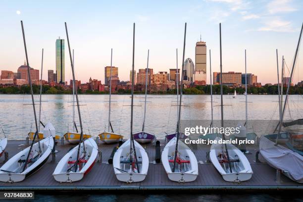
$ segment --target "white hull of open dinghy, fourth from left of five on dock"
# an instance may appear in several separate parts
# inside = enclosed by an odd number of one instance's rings
[[[172,171],[173,163],[169,160],[174,159],[177,138],[171,139],[165,146],[161,154],[161,161],[167,176],[175,182],[192,182],[198,177],[198,161],[195,154],[186,146],[179,147],[178,152],[181,159],[186,159],[189,163],[176,163],[175,172]],[[180,144],[180,143],[179,143]],[[180,146],[180,145],[179,145]],[[188,156],[188,157],[186,157]],[[180,169],[183,167],[183,169]]]

